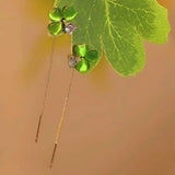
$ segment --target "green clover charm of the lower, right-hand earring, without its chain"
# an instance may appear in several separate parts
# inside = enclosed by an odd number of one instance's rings
[[[97,50],[90,49],[88,45],[74,45],[73,55],[69,56],[69,67],[75,68],[81,73],[86,73],[91,63],[98,59]]]

